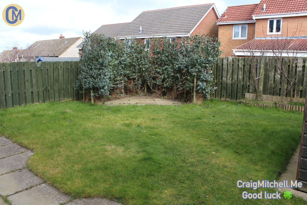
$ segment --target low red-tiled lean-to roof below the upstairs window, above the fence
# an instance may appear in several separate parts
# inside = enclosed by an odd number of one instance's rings
[[[235,48],[236,50],[297,50],[307,51],[307,38],[298,39],[253,39]]]

